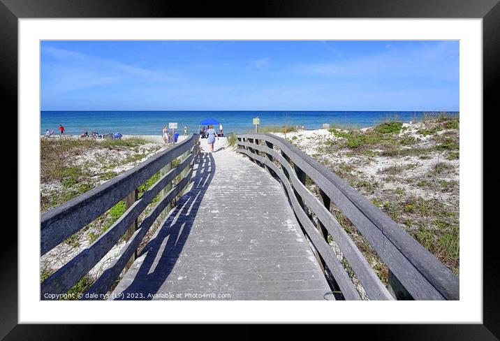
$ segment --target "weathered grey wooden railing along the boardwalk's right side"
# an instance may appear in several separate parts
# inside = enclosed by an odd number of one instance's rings
[[[369,299],[390,300],[394,296],[415,300],[459,299],[456,275],[367,198],[291,143],[270,133],[244,134],[237,136],[236,151],[279,177],[298,222],[314,246],[318,259],[332,273],[344,298],[360,300],[360,293],[329,245],[328,234],[337,243]],[[305,186],[306,176],[318,186],[319,198]],[[330,213],[330,201],[337,205],[388,267],[388,288]],[[317,223],[311,219],[309,210],[316,215]]]

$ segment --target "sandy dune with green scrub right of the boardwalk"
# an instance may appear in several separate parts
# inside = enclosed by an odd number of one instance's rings
[[[323,164],[365,194],[369,201],[401,224],[405,231],[453,273],[458,274],[459,220],[455,196],[459,183],[449,178],[450,175],[455,177],[457,165],[446,160],[459,158],[459,118],[457,115],[438,115],[439,113],[429,113],[425,122],[418,126],[409,126],[406,130],[401,127],[399,135],[396,134],[397,126],[392,130],[387,122],[379,129],[334,127],[330,129],[330,133],[336,143],[326,140],[315,150],[321,155]],[[425,136],[428,138],[424,138]],[[328,155],[332,156],[330,161]],[[394,159],[394,166],[377,167],[379,170],[376,175],[370,175],[374,170],[374,163],[379,161],[377,156],[384,157],[380,160],[383,163],[387,162],[387,157]],[[369,166],[369,173],[362,170],[362,165],[367,165],[363,162],[363,157],[365,161],[370,158],[369,164],[372,166]],[[422,161],[417,161],[418,159]],[[427,168],[427,174],[422,174]],[[369,176],[375,176],[375,179]],[[370,187],[371,182],[391,182],[394,187],[392,184]],[[391,187],[395,189],[390,189]],[[407,187],[411,190],[406,191]],[[450,196],[441,197],[443,192],[448,192]],[[432,196],[427,196],[429,193]],[[335,215],[334,212],[332,214],[338,217],[341,226],[361,249],[363,246],[355,235],[356,228],[346,224],[341,215]],[[371,256],[366,257],[370,259]],[[379,265],[383,269],[383,263],[377,262],[372,263],[372,268],[375,270]]]

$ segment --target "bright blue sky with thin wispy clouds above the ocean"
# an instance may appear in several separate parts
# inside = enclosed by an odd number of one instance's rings
[[[43,41],[41,110],[459,110],[458,41]]]

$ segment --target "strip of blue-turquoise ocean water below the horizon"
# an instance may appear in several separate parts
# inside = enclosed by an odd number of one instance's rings
[[[320,129],[323,123],[342,124],[364,128],[385,119],[411,122],[425,115],[439,115],[424,111],[41,111],[41,134],[45,129],[59,133],[62,124],[65,133],[80,135],[84,131],[99,133],[120,132],[124,135],[161,135],[163,126],[177,122],[179,132],[188,126],[189,133],[198,132],[200,121],[213,118],[221,122],[224,133],[253,131],[253,117],[260,117],[261,126],[304,125],[305,129]],[[447,112],[459,115],[458,112]],[[219,127],[214,127],[219,131]]]

